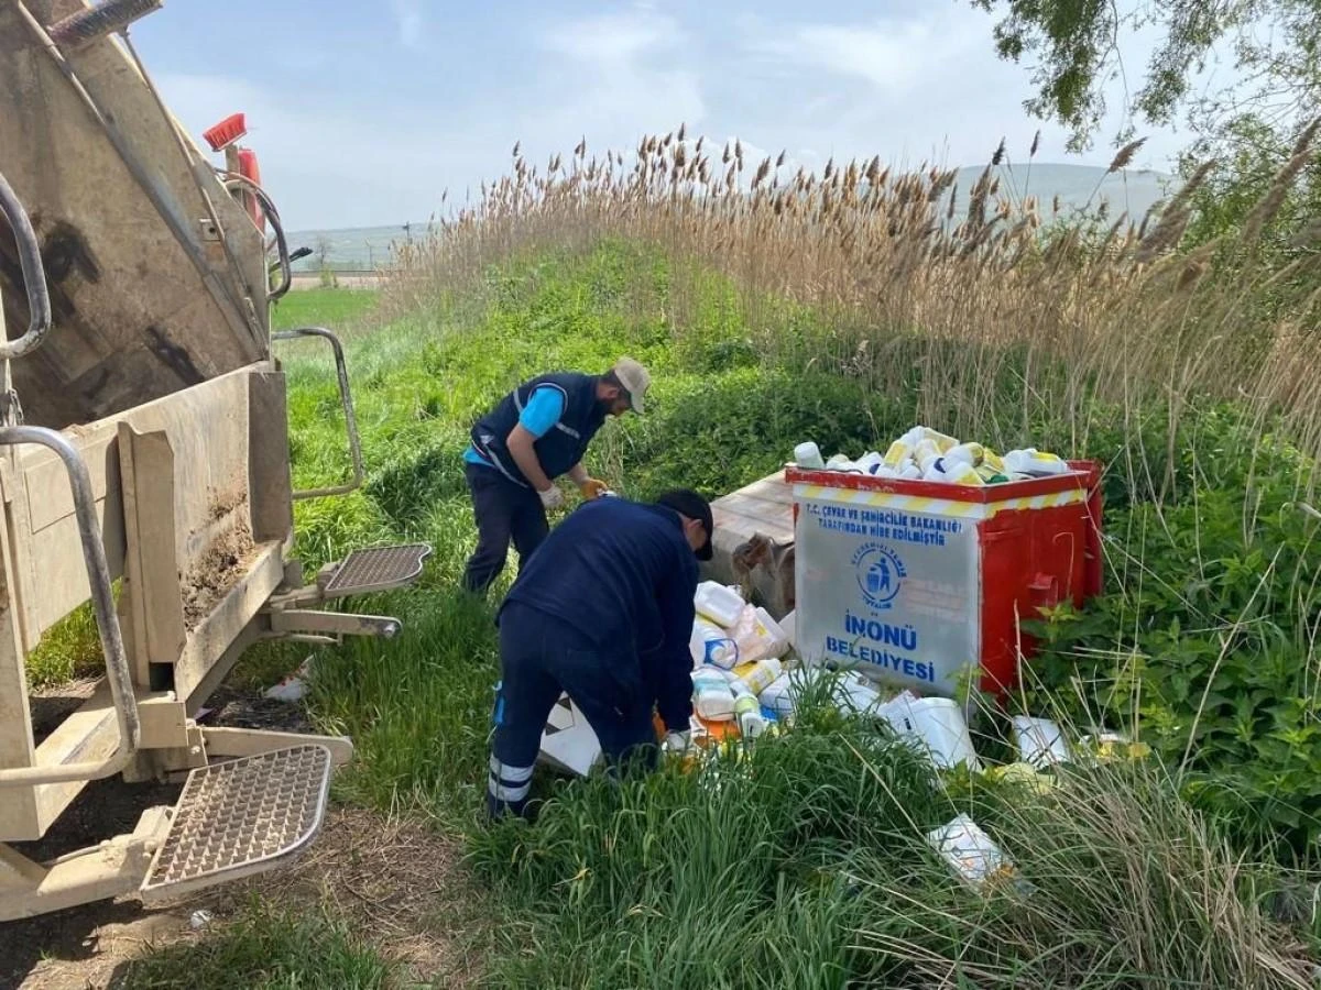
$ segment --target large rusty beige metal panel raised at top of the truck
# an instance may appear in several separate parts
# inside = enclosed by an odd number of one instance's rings
[[[30,3],[45,24],[82,3]],[[203,176],[239,259],[206,234],[206,203],[169,117],[119,44],[67,53],[78,79],[140,166],[135,177],[13,4],[0,4],[0,173],[42,246],[54,309],[46,343],[16,362],[28,422],[89,422],[268,354],[262,235]],[[144,178],[145,177],[145,181]],[[222,289],[222,290],[218,290]],[[0,296],[11,334],[28,325],[13,240],[0,220]]]

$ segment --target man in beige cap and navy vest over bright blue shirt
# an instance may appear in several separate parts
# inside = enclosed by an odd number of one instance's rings
[[[519,569],[546,539],[547,510],[564,504],[555,479],[568,475],[590,500],[605,483],[583,454],[606,416],[641,413],[651,376],[631,358],[604,375],[555,372],[524,381],[473,426],[464,471],[477,517],[477,549],[464,586],[485,594],[505,569],[510,539]]]

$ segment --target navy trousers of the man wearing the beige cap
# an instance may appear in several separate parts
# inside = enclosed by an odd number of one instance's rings
[[[531,488],[509,480],[494,467],[465,463],[468,490],[473,495],[473,516],[477,520],[477,549],[464,572],[464,587],[477,594],[486,589],[505,569],[509,541],[518,550],[518,566],[542,545],[550,532],[546,508]]]

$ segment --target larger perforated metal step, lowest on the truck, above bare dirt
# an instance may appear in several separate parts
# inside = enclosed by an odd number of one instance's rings
[[[190,772],[139,896],[173,898],[293,859],[325,818],[332,766],[330,750],[312,743]]]

